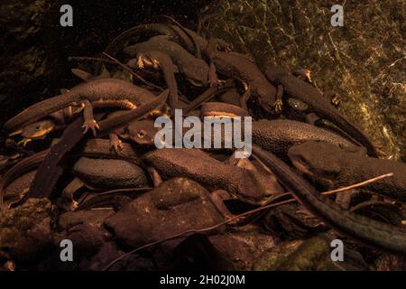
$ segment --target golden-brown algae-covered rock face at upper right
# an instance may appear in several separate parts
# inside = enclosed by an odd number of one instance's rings
[[[208,32],[260,68],[312,70],[319,89],[337,91],[340,110],[387,157],[406,159],[406,2],[347,1],[333,27],[334,1],[221,0]]]

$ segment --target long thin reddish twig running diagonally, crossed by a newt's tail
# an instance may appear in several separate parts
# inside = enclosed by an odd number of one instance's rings
[[[376,182],[376,181],[381,180],[381,179],[383,179],[383,178],[391,177],[392,175],[393,175],[392,172],[391,172],[391,173],[386,173],[386,174],[377,176],[377,177],[375,177],[375,178],[373,178],[373,179],[369,179],[369,180],[366,180],[366,181],[364,181],[364,182],[355,183],[355,184],[353,184],[353,185],[350,185],[350,186],[347,186],[347,187],[344,187],[344,188],[340,188],[340,189],[333,190],[333,191],[325,191],[325,192],[322,192],[322,194],[323,194],[323,195],[330,195],[330,194],[333,194],[333,193],[336,193],[336,192],[339,192],[339,191],[351,190],[351,189],[354,189],[354,188],[357,188],[357,187],[364,186],[364,185],[369,184],[369,183],[371,183],[371,182]],[[287,193],[287,194],[289,194],[289,193]],[[216,224],[216,225],[214,225],[214,226],[211,226],[211,227],[207,227],[207,228],[197,228],[197,229],[189,229],[189,230],[183,231],[183,232],[181,232],[181,233],[179,233],[179,234],[172,235],[171,237],[162,238],[162,239],[160,239],[160,240],[157,240],[157,241],[154,241],[154,242],[145,244],[145,245],[143,245],[142,247],[136,247],[136,248],[134,248],[134,250],[131,250],[131,251],[125,253],[125,255],[122,255],[122,256],[119,256],[119,257],[115,258],[112,262],[110,262],[107,266],[105,266],[105,267],[102,269],[102,271],[106,271],[109,267],[115,265],[115,263],[117,263],[118,261],[123,260],[126,256],[133,255],[134,253],[136,253],[136,252],[138,252],[138,251],[140,251],[140,250],[143,250],[143,249],[146,248],[146,247],[152,247],[152,246],[154,246],[154,245],[161,244],[161,243],[163,243],[163,242],[169,241],[169,240],[174,239],[174,238],[186,237],[186,236],[188,236],[189,234],[196,234],[196,233],[208,232],[208,231],[210,231],[210,230],[213,230],[213,229],[216,229],[216,228],[220,228],[220,227],[222,227],[222,226],[224,226],[224,225],[226,225],[226,224],[228,224],[228,223],[231,223],[231,222],[235,221],[236,219],[241,219],[241,218],[243,218],[243,217],[245,217],[245,216],[252,215],[252,214],[257,213],[257,212],[259,212],[259,211],[271,209],[271,208],[278,207],[278,206],[285,205],[285,204],[289,204],[289,203],[292,203],[292,202],[295,202],[295,201],[296,201],[295,199],[291,199],[291,200],[283,200],[283,201],[280,201],[280,202],[277,202],[277,203],[273,203],[273,204],[268,204],[268,205],[265,205],[265,206],[263,206],[263,207],[256,208],[256,209],[254,209],[254,210],[248,210],[248,211],[246,211],[246,212],[244,212],[244,213],[242,213],[242,214],[235,215],[235,217],[230,218],[230,219],[226,219],[225,221],[223,221],[223,222],[221,222],[221,223],[218,223],[218,224]]]

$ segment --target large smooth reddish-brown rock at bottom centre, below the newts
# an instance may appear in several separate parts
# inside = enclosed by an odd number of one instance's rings
[[[105,220],[115,238],[140,247],[189,229],[206,228],[223,221],[208,191],[197,182],[175,178],[133,200]]]

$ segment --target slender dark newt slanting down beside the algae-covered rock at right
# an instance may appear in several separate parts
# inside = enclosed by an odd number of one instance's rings
[[[368,154],[377,157],[378,153],[374,144],[347,120],[346,117],[341,115],[326,98],[323,98],[323,95],[318,89],[296,78],[288,70],[283,68],[271,67],[266,69],[265,74],[272,83],[282,86],[283,95],[300,99],[309,105],[309,111],[315,112],[318,117],[328,119],[334,123],[338,128],[352,136],[355,141],[363,144]]]

